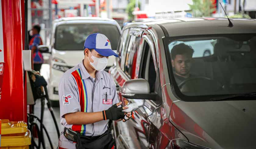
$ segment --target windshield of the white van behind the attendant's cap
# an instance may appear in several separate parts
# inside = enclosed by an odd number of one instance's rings
[[[101,33],[108,37],[111,47],[116,50],[119,30],[116,25],[86,23],[59,25],[55,32],[56,50],[84,50],[84,41],[92,33]]]

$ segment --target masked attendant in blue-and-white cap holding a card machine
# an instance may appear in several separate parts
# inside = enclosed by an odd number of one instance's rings
[[[84,43],[84,60],[66,71],[59,83],[60,122],[79,135],[83,148],[113,148],[115,141],[108,131],[108,121],[125,122],[125,116],[131,117],[131,113],[122,112],[127,107],[120,107],[115,82],[103,71],[112,55],[118,57],[105,35],[89,35]],[[62,132],[59,148],[77,146]]]

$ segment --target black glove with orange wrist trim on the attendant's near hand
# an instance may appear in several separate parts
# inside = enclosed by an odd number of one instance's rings
[[[116,104],[108,108],[107,110],[102,111],[104,120],[119,120],[123,118],[124,112],[122,112],[123,107],[117,107]]]

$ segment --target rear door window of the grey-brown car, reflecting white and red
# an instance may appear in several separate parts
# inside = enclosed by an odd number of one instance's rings
[[[136,69],[136,58],[137,50],[140,44],[140,37],[131,36],[129,46],[127,48],[126,61],[124,72],[128,75],[129,78],[134,78],[135,69]]]

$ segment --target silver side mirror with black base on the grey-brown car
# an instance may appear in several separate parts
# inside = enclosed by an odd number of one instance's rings
[[[150,93],[149,83],[145,79],[132,79],[124,82],[121,95],[127,99],[156,100],[156,93]]]

